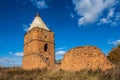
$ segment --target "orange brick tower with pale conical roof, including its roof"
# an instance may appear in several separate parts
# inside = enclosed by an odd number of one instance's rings
[[[42,21],[39,14],[34,18],[24,36],[22,68],[26,70],[54,65],[54,33]]]

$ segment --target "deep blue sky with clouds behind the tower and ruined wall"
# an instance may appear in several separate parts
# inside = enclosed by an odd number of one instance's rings
[[[120,44],[119,0],[0,0],[0,66],[21,66],[24,34],[37,12],[55,33],[56,59],[76,46],[107,55]]]

